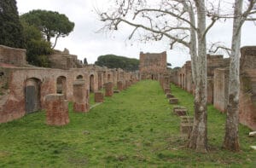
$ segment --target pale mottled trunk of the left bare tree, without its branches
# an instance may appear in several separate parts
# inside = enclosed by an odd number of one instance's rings
[[[207,153],[207,44],[206,11],[204,0],[195,1],[198,23],[198,74],[195,89],[195,117],[189,138],[189,148]]]

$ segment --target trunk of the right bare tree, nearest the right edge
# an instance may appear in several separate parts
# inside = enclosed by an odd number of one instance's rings
[[[230,55],[230,83],[229,99],[226,118],[226,132],[224,136],[224,148],[231,151],[239,151],[239,65],[240,65],[240,44],[241,44],[241,0],[236,0],[235,17],[233,20],[233,35]]]

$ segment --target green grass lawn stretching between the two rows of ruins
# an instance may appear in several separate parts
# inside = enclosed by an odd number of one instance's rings
[[[172,85],[193,114],[193,97]],[[44,112],[0,125],[0,167],[255,167],[255,138],[240,127],[241,152],[222,150],[224,114],[208,107],[208,154],[185,148],[179,119],[160,84],[142,81],[70,123],[45,125]]]

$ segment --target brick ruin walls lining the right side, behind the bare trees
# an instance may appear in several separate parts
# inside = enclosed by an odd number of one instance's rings
[[[221,112],[228,105],[230,59],[223,55],[207,55],[207,102]],[[172,83],[183,90],[195,93],[192,84],[191,62],[172,71]],[[256,130],[256,47],[241,48],[240,65],[240,122]]]

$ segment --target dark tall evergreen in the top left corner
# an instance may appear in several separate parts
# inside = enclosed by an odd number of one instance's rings
[[[0,0],[0,44],[24,48],[22,26],[15,0]]]

